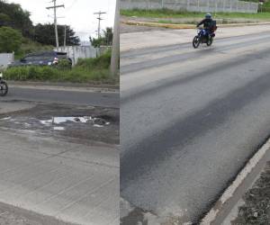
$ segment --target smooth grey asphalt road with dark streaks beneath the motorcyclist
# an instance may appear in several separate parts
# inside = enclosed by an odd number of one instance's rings
[[[270,135],[269,44],[262,32],[121,53],[125,200],[200,219]]]

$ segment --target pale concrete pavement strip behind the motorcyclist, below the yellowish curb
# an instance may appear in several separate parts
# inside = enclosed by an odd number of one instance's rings
[[[256,25],[243,27],[224,27],[216,31],[216,38],[229,38],[258,32],[270,31],[270,25]],[[192,43],[196,35],[195,29],[162,30],[121,33],[121,51],[131,49],[155,48],[176,44]],[[139,40],[139,41],[138,41]]]

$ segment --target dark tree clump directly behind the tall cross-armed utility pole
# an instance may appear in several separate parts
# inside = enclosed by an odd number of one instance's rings
[[[75,36],[70,26],[66,26],[67,31],[67,45],[79,45],[80,40]],[[58,25],[59,45],[64,45],[65,26]],[[46,45],[56,45],[54,24],[37,24],[34,28],[34,40]]]

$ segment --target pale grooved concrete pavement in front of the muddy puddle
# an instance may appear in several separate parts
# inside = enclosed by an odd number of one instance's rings
[[[82,225],[119,224],[119,152],[0,130],[0,202]]]

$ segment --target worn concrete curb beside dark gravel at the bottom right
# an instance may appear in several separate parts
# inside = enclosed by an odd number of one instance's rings
[[[247,165],[240,171],[233,183],[229,185],[225,192],[220,196],[220,199],[215,202],[211,210],[202,218],[200,225],[217,224],[217,220],[220,219],[222,211],[226,211],[226,206],[229,205],[229,202],[232,201],[234,196],[238,195],[237,193],[241,189],[241,185],[247,180],[247,176],[256,170],[256,167],[261,161],[264,161],[264,157],[266,157],[266,153],[268,153],[269,149],[270,139],[268,139],[266,144],[249,159]]]

